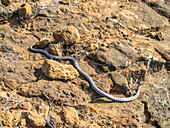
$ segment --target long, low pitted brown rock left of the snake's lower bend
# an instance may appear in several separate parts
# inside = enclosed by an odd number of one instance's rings
[[[48,100],[53,100],[56,105],[72,106],[91,100],[90,96],[81,89],[80,82],[74,85],[70,82],[39,80],[37,83],[22,85],[18,90],[26,97],[45,96]]]

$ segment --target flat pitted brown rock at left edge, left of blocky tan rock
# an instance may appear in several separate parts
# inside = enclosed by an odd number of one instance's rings
[[[4,81],[10,89],[16,89],[18,84],[34,81],[34,64],[24,61],[1,62],[0,80]]]

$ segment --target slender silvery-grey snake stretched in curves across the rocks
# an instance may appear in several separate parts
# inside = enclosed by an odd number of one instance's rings
[[[91,85],[91,88],[96,92],[98,93],[99,95],[101,96],[104,96],[104,97],[107,97],[108,99],[112,100],[112,101],[116,101],[116,102],[128,102],[128,101],[132,101],[132,100],[135,100],[139,94],[140,94],[140,88],[143,86],[143,83],[140,84],[137,88],[137,92],[134,96],[131,96],[131,97],[126,97],[126,98],[118,98],[118,97],[114,97],[102,90],[100,90],[94,83],[94,81],[92,80],[92,78],[87,74],[85,73],[83,70],[80,69],[80,67],[78,66],[78,63],[77,63],[77,60],[73,57],[58,57],[58,56],[54,56],[54,55],[51,55],[49,54],[47,51],[45,50],[42,50],[42,49],[35,49],[34,47],[36,46],[36,44],[33,44],[32,46],[30,46],[30,50],[32,52],[35,52],[35,53],[41,53],[41,54],[44,54],[46,55],[48,58],[50,59],[53,59],[53,60],[62,60],[62,61],[70,61],[72,62],[74,68],[76,68],[76,70],[85,77],[85,79],[88,81],[88,83]]]

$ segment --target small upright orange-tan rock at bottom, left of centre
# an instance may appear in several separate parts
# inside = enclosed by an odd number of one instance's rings
[[[75,124],[78,120],[78,111],[73,107],[63,108],[63,117],[67,124]]]

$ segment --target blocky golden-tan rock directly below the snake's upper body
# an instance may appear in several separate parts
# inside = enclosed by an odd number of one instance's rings
[[[51,79],[71,80],[79,75],[72,65],[62,64],[54,60],[45,60],[41,69]]]

